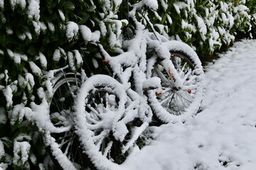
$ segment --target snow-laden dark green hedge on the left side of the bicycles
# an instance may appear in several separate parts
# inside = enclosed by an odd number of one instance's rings
[[[110,49],[121,45],[110,42],[127,23],[117,19],[118,9],[107,1],[0,1],[0,169],[43,169],[48,154],[31,103],[39,105],[42,92],[51,97],[51,70],[69,64],[77,72],[92,62],[82,50],[92,35]]]

